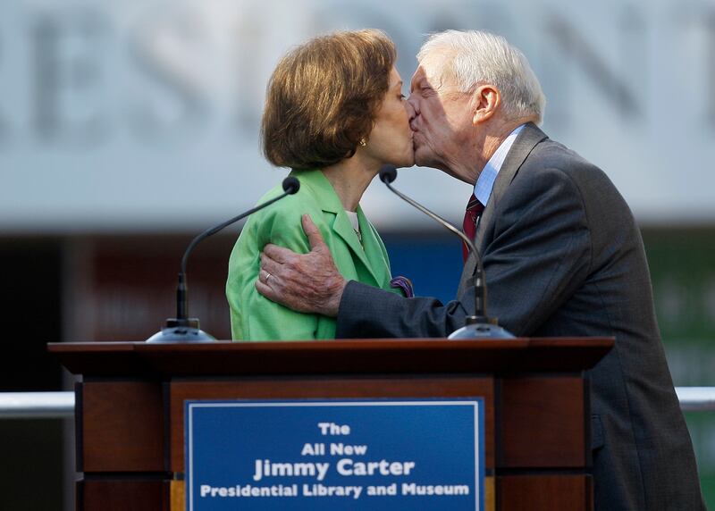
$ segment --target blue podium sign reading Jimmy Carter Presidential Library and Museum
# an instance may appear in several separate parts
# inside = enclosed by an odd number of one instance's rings
[[[189,511],[484,509],[483,398],[187,401]]]

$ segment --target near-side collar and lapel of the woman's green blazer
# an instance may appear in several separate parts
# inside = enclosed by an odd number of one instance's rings
[[[369,272],[375,281],[374,285],[379,285],[379,281],[374,275],[373,267],[368,260],[369,258],[360,245],[360,240],[357,239],[355,230],[352,229],[348,215],[345,214],[345,208],[341,203],[341,199],[338,197],[338,194],[335,193],[335,189],[332,188],[332,184],[330,184],[328,178],[326,178],[321,171],[303,171],[300,172],[299,175],[301,185],[304,182],[307,183],[309,188],[315,193],[315,196],[319,198],[318,203],[321,209],[326,213],[335,215],[335,219],[332,222],[332,231],[350,247],[350,250],[357,256],[357,259],[365,265],[367,272]],[[361,214],[359,207],[357,211],[359,217]],[[363,230],[362,222],[360,223],[360,230]],[[372,236],[372,233],[370,233],[369,236]]]

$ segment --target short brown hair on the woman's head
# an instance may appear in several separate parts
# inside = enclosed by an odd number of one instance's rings
[[[355,154],[397,58],[382,31],[336,32],[286,54],[273,71],[261,123],[263,150],[279,167],[325,167]]]

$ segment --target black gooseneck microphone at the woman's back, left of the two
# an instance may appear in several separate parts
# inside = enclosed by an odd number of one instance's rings
[[[187,247],[183,257],[181,257],[179,284],[176,287],[176,317],[167,319],[166,326],[147,339],[147,342],[211,342],[215,340],[212,335],[199,328],[198,318],[189,318],[189,298],[187,296],[186,286],[186,265],[189,262],[189,255],[201,241],[219,230],[223,230],[231,225],[231,223],[238,222],[246,218],[249,214],[254,214],[272,205],[274,202],[281,200],[283,197],[298,193],[300,181],[298,178],[289,176],[283,180],[282,186],[283,193],[278,197],[273,197],[271,200],[267,200],[265,203],[259,204],[245,213],[234,216],[230,220],[222,222],[211,229],[207,229],[191,240],[189,247]]]

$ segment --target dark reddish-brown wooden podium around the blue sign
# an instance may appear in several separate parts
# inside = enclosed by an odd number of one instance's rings
[[[585,370],[611,338],[54,343],[76,384],[77,508],[183,508],[185,399],[482,397],[487,510],[593,509]]]

